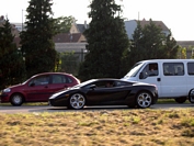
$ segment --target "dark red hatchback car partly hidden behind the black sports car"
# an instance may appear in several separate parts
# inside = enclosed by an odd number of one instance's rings
[[[21,85],[4,89],[0,94],[0,102],[11,102],[12,105],[22,105],[24,102],[48,102],[54,92],[78,83],[80,81],[69,74],[38,74]]]

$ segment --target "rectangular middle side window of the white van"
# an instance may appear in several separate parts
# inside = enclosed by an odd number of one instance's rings
[[[183,76],[184,65],[183,63],[163,63],[164,76]]]

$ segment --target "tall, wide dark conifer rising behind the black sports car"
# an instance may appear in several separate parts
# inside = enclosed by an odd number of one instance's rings
[[[84,32],[89,53],[80,66],[79,78],[119,78],[122,56],[129,45],[124,20],[119,15],[121,5],[114,0],[93,0],[90,8],[91,22]]]

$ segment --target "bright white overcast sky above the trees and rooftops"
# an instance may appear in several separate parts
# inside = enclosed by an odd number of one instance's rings
[[[30,0],[0,0],[0,15],[8,16],[11,23],[25,21]],[[89,23],[91,0],[53,0],[54,18],[76,18],[77,23]],[[162,21],[176,41],[194,41],[194,1],[193,0],[115,0],[122,5],[126,20]]]

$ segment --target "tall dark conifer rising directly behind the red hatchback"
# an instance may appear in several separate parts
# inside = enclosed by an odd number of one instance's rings
[[[55,70],[56,50],[50,0],[31,0],[26,9],[26,26],[21,33],[22,53],[25,56],[27,77]]]

